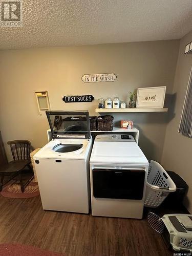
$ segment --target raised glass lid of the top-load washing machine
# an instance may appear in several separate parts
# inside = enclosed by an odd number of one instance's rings
[[[88,111],[46,111],[54,139],[90,139]]]

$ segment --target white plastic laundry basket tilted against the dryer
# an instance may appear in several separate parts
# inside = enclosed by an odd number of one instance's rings
[[[170,192],[176,191],[176,185],[158,162],[149,163],[144,205],[156,208]]]

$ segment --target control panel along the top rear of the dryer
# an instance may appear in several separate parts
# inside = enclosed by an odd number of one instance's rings
[[[132,135],[128,134],[101,134],[95,137],[95,141],[126,141],[135,142]]]

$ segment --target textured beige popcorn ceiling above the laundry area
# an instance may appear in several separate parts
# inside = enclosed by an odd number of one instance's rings
[[[23,0],[23,27],[0,28],[0,49],[177,39],[191,0]]]

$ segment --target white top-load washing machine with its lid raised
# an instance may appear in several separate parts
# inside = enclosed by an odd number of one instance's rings
[[[89,112],[47,111],[53,140],[34,155],[42,208],[88,214]]]

